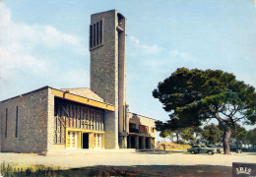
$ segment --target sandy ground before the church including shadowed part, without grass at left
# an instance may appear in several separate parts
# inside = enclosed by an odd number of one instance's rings
[[[232,162],[256,163],[256,153],[190,154],[185,151],[97,152],[42,156],[0,153],[0,162],[16,167],[50,166],[79,174],[90,170],[130,173],[130,176],[231,176]],[[75,168],[75,169],[74,169]],[[80,168],[80,169],[78,169]],[[77,170],[77,171],[76,171]],[[89,171],[88,171],[89,170]],[[118,173],[117,173],[118,174]],[[171,175],[170,175],[171,174]],[[78,175],[79,176],[79,175]]]

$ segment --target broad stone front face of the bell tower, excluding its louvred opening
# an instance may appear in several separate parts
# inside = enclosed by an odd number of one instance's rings
[[[103,23],[103,43],[91,49],[91,89],[102,97],[104,102],[115,106],[115,112],[107,113],[105,116],[105,148],[117,148],[119,110],[117,11],[111,10],[91,16],[91,25],[99,21]]]

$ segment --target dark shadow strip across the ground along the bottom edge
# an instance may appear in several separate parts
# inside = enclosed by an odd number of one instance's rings
[[[93,166],[66,170],[37,170],[15,172],[14,176],[231,176],[232,168],[213,165],[138,165],[138,166]]]

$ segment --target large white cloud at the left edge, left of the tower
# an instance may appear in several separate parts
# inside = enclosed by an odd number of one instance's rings
[[[87,49],[78,36],[65,33],[52,26],[19,24],[12,21],[10,10],[0,3],[0,78],[9,80],[20,69],[39,74],[49,71],[51,60],[36,53],[36,47],[58,49],[69,46],[79,54]],[[35,53],[35,54],[33,54]]]

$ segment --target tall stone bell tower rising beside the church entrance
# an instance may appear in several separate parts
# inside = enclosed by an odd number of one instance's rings
[[[91,89],[113,104],[105,118],[105,139],[127,148],[126,19],[117,10],[93,14],[90,25]],[[114,137],[114,138],[113,138]],[[118,146],[117,146],[118,145]],[[111,148],[105,146],[106,148]]]

